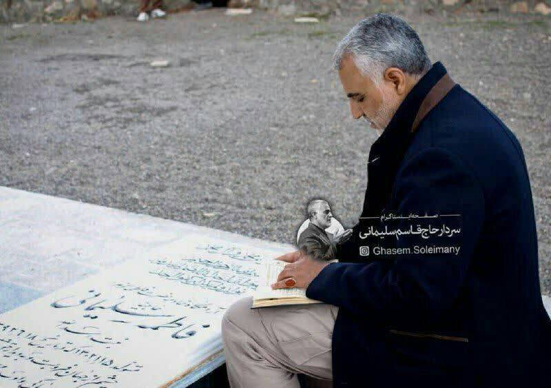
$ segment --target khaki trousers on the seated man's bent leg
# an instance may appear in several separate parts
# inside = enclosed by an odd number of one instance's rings
[[[251,309],[233,303],[222,318],[222,340],[232,388],[299,388],[296,374],[331,380],[331,336],[338,307]]]

